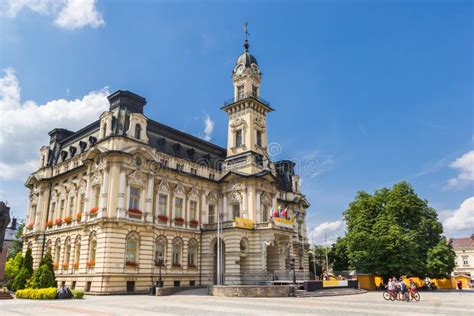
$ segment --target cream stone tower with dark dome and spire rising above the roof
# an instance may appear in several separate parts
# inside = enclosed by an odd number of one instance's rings
[[[266,115],[273,109],[260,97],[262,73],[245,31],[244,52],[232,71],[234,97],[222,107],[229,116],[226,168],[255,174],[270,169]]]

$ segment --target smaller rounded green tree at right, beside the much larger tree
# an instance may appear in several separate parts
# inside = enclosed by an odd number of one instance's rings
[[[445,278],[454,270],[456,253],[446,238],[442,238],[439,243],[428,251],[426,267],[428,275],[432,278]]]

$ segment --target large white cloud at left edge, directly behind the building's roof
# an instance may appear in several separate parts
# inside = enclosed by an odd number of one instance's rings
[[[39,149],[56,127],[77,130],[107,110],[107,88],[81,99],[56,99],[45,104],[21,103],[20,84],[13,69],[0,78],[0,178],[26,180],[39,162]]]

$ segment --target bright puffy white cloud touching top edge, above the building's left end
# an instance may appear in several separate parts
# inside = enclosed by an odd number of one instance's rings
[[[94,28],[103,26],[105,22],[97,11],[95,2],[95,0],[68,0],[54,23],[70,30],[84,26]]]

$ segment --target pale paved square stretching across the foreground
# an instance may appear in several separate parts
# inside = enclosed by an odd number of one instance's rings
[[[309,298],[227,298],[193,290],[153,297],[86,296],[67,301],[0,301],[0,315],[474,315],[474,293],[421,293],[419,303],[387,302],[381,292]]]

